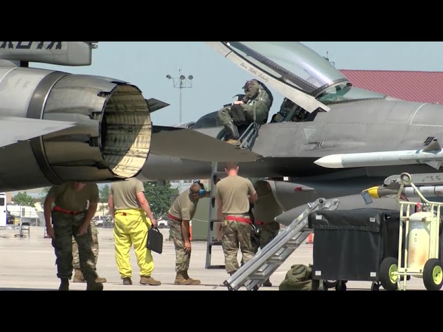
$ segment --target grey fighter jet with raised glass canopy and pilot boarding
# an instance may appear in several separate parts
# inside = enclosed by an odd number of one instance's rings
[[[239,141],[240,149],[260,155],[239,163],[240,175],[290,178],[269,181],[284,211],[304,210],[306,203],[319,196],[338,198],[341,209],[365,207],[361,190],[383,183],[388,176],[439,172],[426,164],[340,169],[314,162],[336,154],[426,149],[442,139],[443,105],[408,102],[356,88],[327,59],[299,42],[206,43],[284,96],[279,109],[271,108],[268,122],[242,128],[246,133]],[[241,86],[243,82],[228,83]],[[224,140],[217,111],[183,127]],[[153,153],[138,177],[211,177],[211,163],[178,157]],[[223,172],[223,167],[219,163],[217,172]],[[397,207],[395,201],[383,199],[373,206]]]

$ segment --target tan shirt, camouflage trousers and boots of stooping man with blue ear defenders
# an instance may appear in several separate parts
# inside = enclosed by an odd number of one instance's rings
[[[190,221],[195,215],[198,199],[192,197],[192,192],[186,190],[182,192],[168,211],[168,225],[170,227],[170,237],[174,241],[175,248],[175,271],[177,273],[174,284],[176,285],[198,285],[200,280],[192,279],[188,275],[191,259],[191,251],[186,252],[181,223],[183,220]],[[196,196],[198,197],[198,195]]]

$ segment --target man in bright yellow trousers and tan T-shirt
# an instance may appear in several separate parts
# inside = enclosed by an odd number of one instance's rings
[[[140,284],[161,285],[161,282],[151,277],[154,260],[151,250],[146,248],[147,232],[151,227],[156,228],[157,222],[145,198],[143,183],[137,178],[112,183],[109,188],[108,208],[111,216],[114,216],[116,263],[123,284],[132,285],[129,250],[134,246],[140,267]]]

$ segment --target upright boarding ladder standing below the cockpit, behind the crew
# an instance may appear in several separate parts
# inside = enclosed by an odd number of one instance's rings
[[[211,174],[211,185],[210,185],[210,205],[209,205],[209,216],[208,216],[208,238],[206,240],[206,264],[205,268],[215,269],[220,268],[224,269],[224,265],[211,265],[211,255],[213,252],[213,246],[221,246],[221,241],[217,241],[217,230],[215,236],[213,234],[214,231],[214,223],[221,222],[220,219],[215,219],[213,214],[217,217],[217,211],[215,211],[215,186],[217,183],[217,178],[221,176],[221,172],[217,172],[218,163],[213,162],[213,171]],[[215,237],[215,239],[214,239]]]

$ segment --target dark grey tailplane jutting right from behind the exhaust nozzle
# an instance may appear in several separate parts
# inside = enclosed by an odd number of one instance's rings
[[[192,129],[162,126],[153,126],[152,129],[152,154],[199,161],[235,160],[239,163],[262,157]]]

